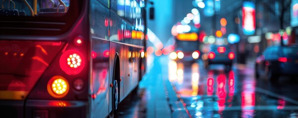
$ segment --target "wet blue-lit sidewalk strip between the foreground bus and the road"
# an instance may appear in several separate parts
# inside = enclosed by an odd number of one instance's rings
[[[164,59],[157,58],[154,66],[143,77],[139,88],[146,89],[147,115],[146,118],[189,118],[183,101],[178,98],[168,79],[166,63],[158,62]],[[166,65],[158,65],[158,64]]]

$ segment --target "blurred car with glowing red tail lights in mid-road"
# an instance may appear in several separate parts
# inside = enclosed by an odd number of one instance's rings
[[[224,64],[226,70],[231,70],[235,53],[228,45],[211,45],[207,57],[204,59],[205,68],[209,68],[211,64]]]

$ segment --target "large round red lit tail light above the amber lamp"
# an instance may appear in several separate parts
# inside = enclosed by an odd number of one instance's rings
[[[60,57],[60,67],[68,75],[79,74],[84,66],[85,59],[81,52],[77,50],[67,50]]]

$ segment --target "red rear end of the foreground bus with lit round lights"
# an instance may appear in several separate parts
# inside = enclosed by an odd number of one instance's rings
[[[87,2],[3,0],[2,6],[1,117],[86,117],[90,31],[83,16]]]

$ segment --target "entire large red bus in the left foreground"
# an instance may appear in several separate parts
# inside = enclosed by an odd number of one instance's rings
[[[3,0],[1,118],[105,118],[144,73],[144,0]]]

